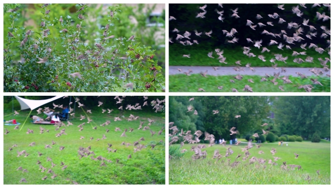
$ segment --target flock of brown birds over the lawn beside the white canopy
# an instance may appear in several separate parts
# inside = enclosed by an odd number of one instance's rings
[[[68,97],[68,96],[65,96],[65,97]],[[64,98],[65,98],[64,97]],[[120,98],[119,96],[116,96],[114,99],[117,101],[116,102],[116,104],[121,104],[122,105],[122,101],[124,100],[124,98],[125,98],[125,96],[122,96],[122,98]],[[144,105],[147,105],[147,100],[148,99],[148,97],[147,96],[144,96],[144,104],[143,104],[143,106]],[[81,107],[81,106],[84,106],[84,104],[81,104],[80,102],[80,99],[79,98],[76,98],[76,103],[79,105],[79,107]],[[164,106],[164,103],[165,103],[165,99],[164,100],[159,100],[159,99],[156,99],[156,100],[153,100],[153,101],[151,101],[151,106],[153,106],[153,109],[156,109],[156,112],[157,111],[161,111],[161,109],[163,108],[163,106]],[[70,104],[72,104],[72,102],[70,103]],[[100,102],[99,101],[99,105],[98,106],[101,106],[101,105],[103,105],[103,103],[102,102]],[[56,104],[53,104],[53,106],[54,106],[54,109],[56,108],[56,107],[60,107],[60,108],[62,108],[63,107],[63,104],[62,105],[56,105]],[[123,106],[123,105],[122,105]],[[122,107],[121,106],[121,107]],[[119,108],[119,109],[122,109],[122,108]],[[49,109],[49,107],[44,107],[45,108],[45,110],[47,111],[48,109]],[[131,105],[131,104],[127,104],[126,105],[126,107],[125,107],[125,109],[127,109],[127,110],[131,110],[131,109],[133,109],[133,110],[137,110],[137,109],[141,109],[141,105],[139,104],[139,103],[137,103],[137,104],[135,104],[135,105]],[[37,110],[37,112],[38,112],[38,114],[40,114],[41,113],[41,110],[42,110],[42,108],[40,108],[40,109],[38,109]],[[73,109],[72,108],[70,108],[70,112],[72,111]],[[104,109],[102,109],[103,111],[102,111],[102,113],[104,113],[106,110],[104,110]],[[110,112],[112,112],[113,111],[113,109],[111,109],[111,110],[109,110],[108,109],[108,113],[110,113]],[[87,110],[87,113],[92,113],[91,112],[91,110]],[[14,115],[17,115],[17,114],[19,114],[17,111],[15,111],[15,114]],[[73,114],[71,114],[72,116],[74,116],[74,113]],[[81,121],[83,121],[85,119],[85,116],[83,116],[83,115],[81,115]],[[134,116],[134,115],[132,115],[132,114],[130,114],[130,116],[127,118],[127,121],[135,121],[135,120],[138,120],[139,119],[139,116]],[[87,117],[87,120],[88,120],[88,122],[87,122],[87,124],[89,124],[90,122],[92,122],[92,120],[89,118],[89,117]],[[120,117],[115,117],[114,118],[114,121],[121,121],[122,119],[120,118]],[[155,131],[153,131],[153,130],[151,130],[150,129],[150,125],[154,122],[154,120],[151,120],[151,119],[149,119],[149,118],[147,118],[147,121],[148,121],[148,124],[147,124],[147,126],[144,126],[143,127],[143,125],[145,124],[145,122],[142,122],[142,121],[140,121],[140,125],[139,125],[139,127],[137,128],[138,130],[140,130],[140,129],[142,129],[142,130],[150,130],[150,133],[151,133],[151,137],[153,137],[153,135],[156,133]],[[110,121],[106,121],[105,123],[103,123],[102,125],[100,125],[100,126],[107,126],[107,125],[109,125],[111,122]],[[67,125],[65,124],[65,123],[63,123],[63,122],[59,122],[59,123],[56,123],[54,126],[56,127],[55,128],[55,131],[58,131],[62,126],[63,127],[66,127],[66,126],[70,126],[70,125],[73,125],[70,121],[67,121]],[[79,131],[82,131],[83,129],[84,129],[84,125],[85,125],[85,122],[84,123],[82,123],[82,124],[80,124],[80,125],[78,125],[78,127],[80,128],[79,129]],[[14,128],[14,130],[18,130],[19,129],[19,125],[17,125],[17,126],[15,126],[15,128]],[[95,127],[93,127],[93,129],[94,130],[96,130],[97,129],[97,126],[95,126]],[[162,134],[162,132],[163,132],[163,130],[165,129],[165,127],[163,126],[162,128],[161,128],[161,130],[158,132],[158,135],[161,135]],[[62,128],[61,130],[60,130],[60,132],[59,133],[56,133],[55,134],[55,136],[56,137],[61,137],[62,135],[67,135],[67,133],[65,132],[65,128]],[[47,130],[45,130],[45,128],[43,128],[42,126],[40,126],[40,134],[43,134],[43,133],[45,133],[45,132],[49,132],[50,130],[49,129],[47,129]],[[105,129],[105,133],[108,133],[110,130],[109,129]],[[120,127],[115,127],[115,131],[116,132],[118,132],[118,131],[121,131],[122,132],[122,130],[120,129]],[[125,135],[125,132],[133,132],[134,131],[134,128],[131,128],[131,127],[129,127],[129,129],[127,129],[127,128],[125,128],[124,129],[124,131],[123,131],[123,133],[121,134],[121,137],[126,137],[126,135]],[[6,129],[6,132],[5,132],[5,134],[8,134],[10,131],[8,131],[7,129]],[[32,130],[32,129],[27,129],[27,132],[26,132],[26,134],[33,134],[34,133],[34,130]],[[83,139],[85,139],[85,137],[84,136],[81,136],[80,137],[80,140],[83,140]],[[93,137],[90,137],[90,141],[92,141],[94,138]],[[105,136],[105,134],[102,136],[102,138],[100,139],[100,138],[97,138],[96,139],[96,141],[99,141],[99,140],[104,140],[104,139],[107,139],[106,138],[106,136]],[[141,151],[143,148],[146,148],[146,145],[145,144],[142,144],[142,141],[145,141],[145,138],[144,137],[141,137],[140,139],[138,139],[138,141],[135,141],[134,143],[125,143],[125,142],[122,142],[122,146],[126,146],[126,147],[128,147],[128,146],[134,146],[134,153],[136,153],[137,151]],[[164,141],[163,140],[161,140],[159,143],[164,143]],[[37,143],[38,145],[45,145],[44,146],[44,149],[48,149],[48,148],[50,148],[50,149],[52,149],[53,147],[55,147],[56,146],[56,142],[54,142],[52,139],[51,139],[51,142],[50,143]],[[30,155],[30,153],[28,153],[28,151],[27,150],[29,150],[29,147],[32,147],[32,146],[36,146],[37,145],[36,144],[36,142],[32,142],[31,144],[29,144],[28,145],[28,147],[26,147],[26,148],[24,148],[24,150],[22,150],[22,151],[19,151],[19,150],[17,150],[17,157],[20,157],[20,156],[23,156],[24,155],[24,157],[28,157],[28,156],[30,156],[30,157],[41,157],[41,158],[43,158],[43,153],[42,152],[40,152],[40,151],[38,151],[38,153],[36,153],[36,154],[31,154]],[[108,146],[105,146],[106,147],[106,150],[108,151],[108,153],[110,153],[110,152],[116,152],[117,151],[117,149],[112,149],[112,144],[107,144]],[[151,149],[153,149],[155,146],[156,146],[157,144],[150,144],[150,147],[151,147]],[[148,146],[148,145],[147,145]],[[18,147],[19,148],[19,146],[17,145],[17,144],[15,144],[15,145],[13,145],[12,147],[9,147],[9,149],[8,149],[8,151],[11,151],[11,150],[13,150],[15,147]],[[63,149],[66,149],[66,147],[67,146],[59,146],[59,150],[60,151],[62,151]],[[90,156],[90,159],[91,160],[94,160],[94,161],[101,161],[101,164],[100,164],[100,167],[106,167],[106,164],[107,163],[112,163],[113,161],[111,161],[111,160],[109,160],[109,159],[107,159],[106,157],[104,157],[104,156],[102,156],[102,155],[99,155],[98,157],[95,157],[95,153],[94,153],[94,151],[93,150],[91,150],[92,148],[91,148],[91,146],[88,146],[88,147],[82,147],[82,146],[80,146],[79,147],[79,149],[78,149],[78,156],[79,156],[79,159],[81,159],[81,158],[83,158],[83,157],[88,157],[89,155],[91,155]],[[131,154],[129,154],[128,156],[127,156],[127,159],[130,159],[130,158],[132,158],[132,156],[131,156]],[[38,159],[40,159],[40,158],[38,158]],[[41,161],[46,161],[45,163],[43,162],[43,164],[42,164],[42,162]],[[37,160],[37,163],[36,163],[36,165],[37,166],[39,166],[39,170],[41,170],[41,172],[44,172],[44,171],[46,171],[46,173],[47,174],[51,174],[51,179],[54,179],[55,177],[57,177],[57,174],[55,174],[55,172],[52,170],[53,169],[53,167],[56,167],[57,165],[52,161],[52,158],[50,158],[49,156],[45,156],[44,157],[44,159],[40,159],[40,160]],[[115,162],[116,163],[119,163],[119,159],[116,159],[115,160]],[[61,166],[63,166],[62,167],[62,170],[65,170],[68,166],[70,166],[70,164],[67,164],[66,162],[61,162],[61,164],[59,164],[59,166],[61,167]],[[57,167],[56,167],[57,168]],[[24,173],[24,172],[29,172],[28,171],[28,169],[25,169],[25,168],[23,168],[23,167],[18,167],[17,168],[17,170],[18,171],[22,171],[22,173]],[[42,177],[42,180],[45,180],[45,179],[47,179],[49,177],[49,175],[45,175],[45,176],[43,176]],[[20,180],[20,183],[22,183],[22,182],[25,182],[25,183],[27,183],[27,181],[26,181],[26,179],[25,178],[21,178],[21,180]],[[78,184],[77,182],[75,182],[75,181],[72,181],[74,184]]]

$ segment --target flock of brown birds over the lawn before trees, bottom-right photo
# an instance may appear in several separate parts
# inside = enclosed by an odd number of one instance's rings
[[[194,98],[190,98],[189,99],[189,101],[193,101],[193,100],[194,100]],[[189,105],[187,112],[191,112],[191,111],[194,111],[194,115],[198,114],[198,112],[195,109],[193,109],[193,107],[191,105]],[[218,114],[219,110],[212,110],[212,112],[213,112],[213,114]],[[241,115],[236,115],[234,117],[235,118],[241,118]],[[199,138],[203,134],[203,132],[201,130],[197,130],[197,131],[195,131],[194,134],[191,134],[191,130],[188,130],[188,131],[184,132],[183,129],[181,129],[181,131],[180,131],[177,128],[177,126],[173,126],[173,125],[174,125],[174,122],[169,122],[169,127],[170,127],[169,130],[172,131],[172,133],[169,134],[169,137],[170,137],[169,146],[171,146],[172,144],[178,142],[180,140],[180,138],[183,138],[183,141],[180,143],[181,148],[182,148],[182,146],[184,146],[185,142],[188,142],[188,144],[197,144],[197,143],[200,142]],[[267,126],[267,125],[268,125],[267,123],[264,123],[261,126]],[[239,131],[235,130],[235,128],[236,127],[232,127],[230,129],[230,135],[239,134]],[[264,129],[262,129],[262,132],[263,132],[262,134],[268,134],[269,133],[269,131],[265,131]],[[215,145],[215,137],[214,137],[213,134],[209,134],[208,132],[205,132],[204,135],[205,135],[204,140],[209,140],[208,147]],[[253,134],[253,136],[254,137],[259,137],[258,133]],[[241,144],[241,141],[237,141],[235,143],[235,146],[238,146],[239,144]],[[219,145],[226,146],[226,141],[221,142]],[[259,149],[261,147],[261,145],[257,145],[257,144],[255,144],[255,146],[256,146],[256,149]],[[203,145],[199,144],[199,145],[196,145],[196,146],[191,146],[191,150],[190,151],[194,151],[194,154],[191,156],[192,160],[198,160],[198,159],[201,159],[201,158],[202,159],[207,158],[207,155],[208,155],[207,150],[202,151],[202,149],[206,148],[206,147],[207,146],[205,144],[203,144]],[[241,149],[241,152],[244,152],[244,154],[243,154],[244,157],[242,157],[243,155],[238,152],[238,155],[235,157],[235,161],[233,163],[230,164],[230,160],[231,159],[227,158],[228,165],[230,167],[236,167],[236,166],[238,166],[241,163],[241,161],[238,161],[239,158],[242,159],[242,161],[246,161],[250,157],[250,155],[251,155],[250,154],[250,148],[253,148],[253,147],[254,147],[253,143],[250,140],[248,142],[247,146],[245,146],[244,148]],[[234,151],[232,150],[231,146],[227,147],[226,149],[227,150],[225,152],[225,155],[220,154],[219,149],[216,149],[214,151],[214,153],[213,153],[212,159],[216,159],[216,162],[218,162],[221,158],[223,158],[223,157],[229,157],[229,156],[231,156],[234,153]],[[187,151],[187,149],[182,149],[181,150],[182,153],[185,153],[186,151]],[[275,155],[276,154],[276,149],[274,147],[272,147],[271,150],[270,150],[270,152],[271,152],[272,155]],[[262,154],[262,153],[264,153],[264,151],[260,150],[260,151],[258,151],[258,153]],[[295,156],[295,159],[298,159],[299,154],[294,153],[294,156]],[[171,155],[169,155],[169,160],[170,159],[172,159]],[[279,157],[273,157],[273,160],[269,159],[268,160],[268,165],[271,165],[271,166],[278,165],[276,162],[274,162],[274,161],[278,161],[278,159],[281,159],[281,158],[279,158]],[[223,163],[224,160],[222,160],[221,162]],[[265,160],[265,159],[256,158],[254,156],[249,159],[249,164],[254,164],[256,162],[258,162],[258,164],[262,164],[263,168],[267,167],[267,165],[264,165],[267,162],[267,160]],[[287,170],[288,167],[290,167],[291,169],[294,169],[294,168],[297,167],[298,170],[302,168],[300,165],[293,165],[293,164],[291,164],[291,165],[288,166],[286,162],[283,162],[283,164],[281,165],[281,168],[285,169],[285,170]],[[319,175],[319,170],[317,170],[316,173]],[[311,180],[310,176],[307,177],[307,180]]]

